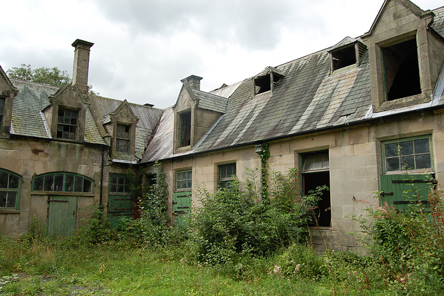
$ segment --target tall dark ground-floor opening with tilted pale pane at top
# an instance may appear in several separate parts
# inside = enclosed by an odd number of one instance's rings
[[[318,186],[330,188],[330,162],[328,151],[305,154],[302,156],[302,190],[303,195],[309,195]],[[311,225],[330,227],[332,220],[330,192],[323,192],[314,209],[315,217]]]

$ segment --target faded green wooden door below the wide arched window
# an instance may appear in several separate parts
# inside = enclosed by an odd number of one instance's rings
[[[48,234],[49,236],[71,236],[76,232],[77,197],[49,197]]]

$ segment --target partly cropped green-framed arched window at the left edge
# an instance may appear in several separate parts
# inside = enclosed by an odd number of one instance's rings
[[[0,169],[0,208],[19,209],[22,176]]]

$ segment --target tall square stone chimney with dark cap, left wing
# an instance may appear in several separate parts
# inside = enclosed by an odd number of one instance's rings
[[[78,39],[71,45],[75,48],[72,85],[77,85],[80,92],[85,93],[88,91],[89,49],[94,43]]]

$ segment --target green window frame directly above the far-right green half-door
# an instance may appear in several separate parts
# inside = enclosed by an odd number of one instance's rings
[[[413,154],[407,154],[407,156],[413,156],[413,159],[415,160],[414,163],[416,163],[416,156],[420,156],[420,155],[426,155],[427,153],[415,153],[415,145],[414,145],[414,141],[415,140],[423,140],[423,139],[427,139],[429,140],[429,160],[430,160],[430,167],[424,167],[424,168],[419,168],[417,169],[415,168],[407,168],[406,170],[402,170],[402,166],[401,166],[401,160],[398,162],[400,165],[400,170],[387,170],[387,157],[389,158],[401,158],[402,155],[398,155],[398,156],[386,156],[386,145],[389,144],[393,144],[398,142],[398,146],[400,142],[408,142],[408,141],[413,141]],[[419,135],[416,137],[409,137],[409,138],[398,138],[395,140],[386,140],[381,142],[381,150],[382,150],[382,166],[383,166],[383,172],[384,174],[406,174],[407,172],[409,173],[425,173],[425,172],[429,172],[429,173],[433,173],[434,172],[434,153],[433,153],[433,142],[432,142],[432,135]],[[416,165],[415,165],[416,166]]]

